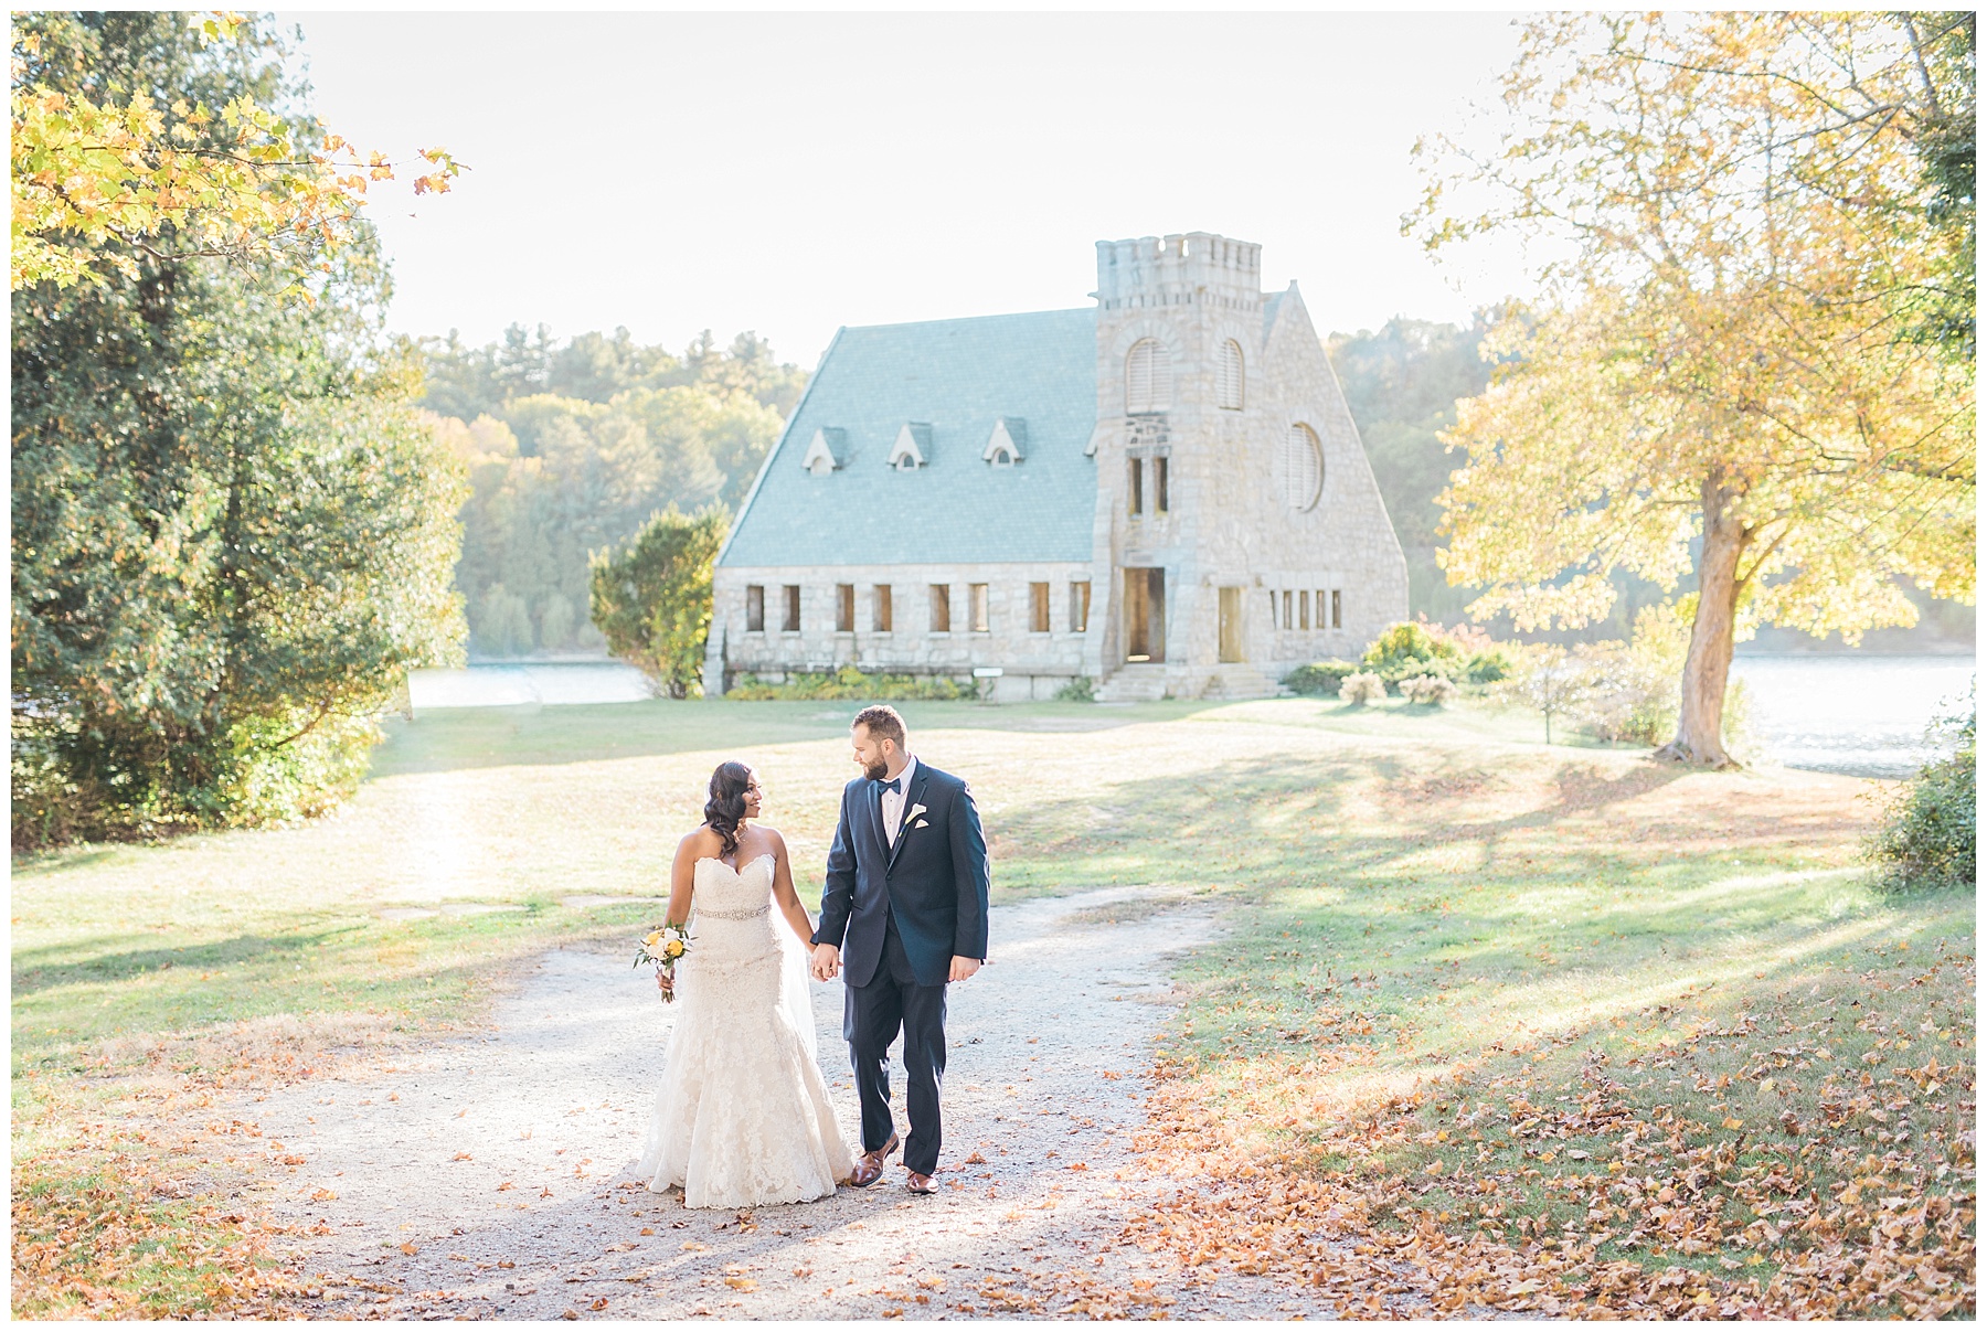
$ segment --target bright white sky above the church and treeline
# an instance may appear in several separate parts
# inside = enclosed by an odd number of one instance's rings
[[[407,333],[757,330],[811,367],[841,324],[1087,306],[1093,242],[1184,230],[1260,242],[1319,332],[1520,288],[1399,234],[1500,14],[278,18],[332,129],[471,167],[376,187]]]

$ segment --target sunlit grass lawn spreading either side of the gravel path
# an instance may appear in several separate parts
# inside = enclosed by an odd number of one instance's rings
[[[1486,1171],[1538,1171],[1490,1199],[1502,1203],[1494,1217],[1484,1199],[1425,1189],[1415,1205],[1447,1213],[1443,1225],[1564,1231],[1572,1201],[1544,1183],[1568,1159],[1560,1139],[1544,1143],[1536,1124],[1518,1137],[1492,1132],[1532,1118],[1496,1118],[1512,1096],[1578,1100],[1598,1050],[1625,1088],[1607,1096],[1633,1116],[1685,1116],[1699,1104],[1671,1082],[1715,1082],[1762,1056],[1709,1034],[1741,1010],[1790,1012],[1814,1044],[1822,1000],[1834,1002],[1826,1070],[1812,1058],[1774,1070],[1774,1116],[1782,1102],[1802,1124],[1824,1114],[1824,1072],[1876,1040],[1892,1042],[1886,1058],[1900,1038],[1913,1058],[1949,1050],[1941,1064],[1963,1064],[1971,1086],[1971,901],[1878,899],[1862,885],[1866,782],[1685,774],[1627,750],[1548,748],[1536,719],[1480,711],[1282,699],[904,713],[916,752],[974,782],[995,899],[1141,883],[1154,899],[1222,893],[1236,907],[1232,933],[1186,965],[1170,1056],[1176,1086],[1246,1128],[1232,1133],[1236,1149],[1327,1173],[1357,1149],[1361,1169],[1423,1183],[1437,1179],[1431,1161],[1449,1169],[1458,1151],[1472,1169],[1482,1157]],[[225,1280],[189,1288],[129,1268],[111,1278],[101,1255],[125,1241],[97,1227],[64,1249],[52,1235],[62,1217],[74,1231],[74,1217],[117,1209],[183,1233],[191,1203],[139,1197],[129,1181],[171,1175],[161,1126],[189,1098],[385,1058],[395,1042],[473,1020],[489,987],[550,943],[622,937],[654,919],[654,905],[564,899],[664,891],[676,840],[723,758],[759,768],[767,818],[811,893],[854,772],[852,715],[835,703],[666,701],[433,711],[389,727],[372,780],[334,818],[16,860],[16,1312],[240,1308],[242,1292],[260,1290],[240,1272],[234,1294]],[[515,909],[449,913],[463,905]],[[431,915],[409,917],[419,911]],[[1856,977],[1890,977],[1906,957],[1941,967],[1908,1000],[1878,1004],[1900,1030],[1850,1034],[1874,1014]],[[1864,1008],[1844,1012],[1852,991]],[[1904,1032],[1898,1004],[1931,999],[1939,1006]],[[1927,1018],[1931,1032],[1915,1030]],[[1757,1022],[1762,1050],[1794,1038],[1780,1024]],[[1671,1046],[1657,1044],[1665,1036]],[[1462,1082],[1433,1098],[1435,1074]],[[1399,1104],[1417,1080],[1423,1100],[1407,1114]],[[1747,1088],[1721,1088],[1725,1106],[1755,1096]],[[1961,1102],[1953,1080],[1941,1090],[1943,1102],[1913,1102],[1911,1151],[1951,1143]],[[1343,1128],[1389,1102],[1395,1128]],[[1758,1120],[1751,1100],[1743,1110],[1727,1118]],[[1697,1122],[1679,1120],[1687,1145]],[[1824,1169],[1814,1161],[1802,1167]],[[1971,1199],[1971,1159],[1941,1163],[1937,1183],[1963,1175]],[[240,1227],[252,1231],[252,1217]],[[1621,1249],[1627,1233],[1613,1229],[1596,1241],[1615,1245],[1604,1257],[1679,1251]]]

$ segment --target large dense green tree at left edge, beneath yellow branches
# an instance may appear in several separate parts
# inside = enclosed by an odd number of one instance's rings
[[[302,115],[274,60],[187,50],[173,16],[95,36],[77,77]],[[284,272],[127,258],[12,298],[16,846],[320,812],[461,637],[459,468],[372,238],[310,306]]]

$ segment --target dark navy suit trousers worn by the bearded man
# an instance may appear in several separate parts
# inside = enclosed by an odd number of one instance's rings
[[[946,987],[918,985],[896,923],[884,931],[882,959],[868,985],[850,985],[842,1010],[848,1062],[862,1100],[862,1149],[876,1151],[894,1130],[890,1118],[890,1042],[904,1032],[904,1104],[910,1137],[904,1167],[920,1175],[938,1169],[942,1132],[938,1088],[946,1080]]]

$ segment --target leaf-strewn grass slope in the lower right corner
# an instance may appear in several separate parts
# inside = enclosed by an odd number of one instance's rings
[[[1188,1040],[1139,1147],[1204,1183],[1125,1241],[1343,1316],[1973,1316],[1973,957],[1902,953],[1739,1010],[1494,1042],[1335,1114],[1333,1082],[1387,1086],[1375,1046]]]

